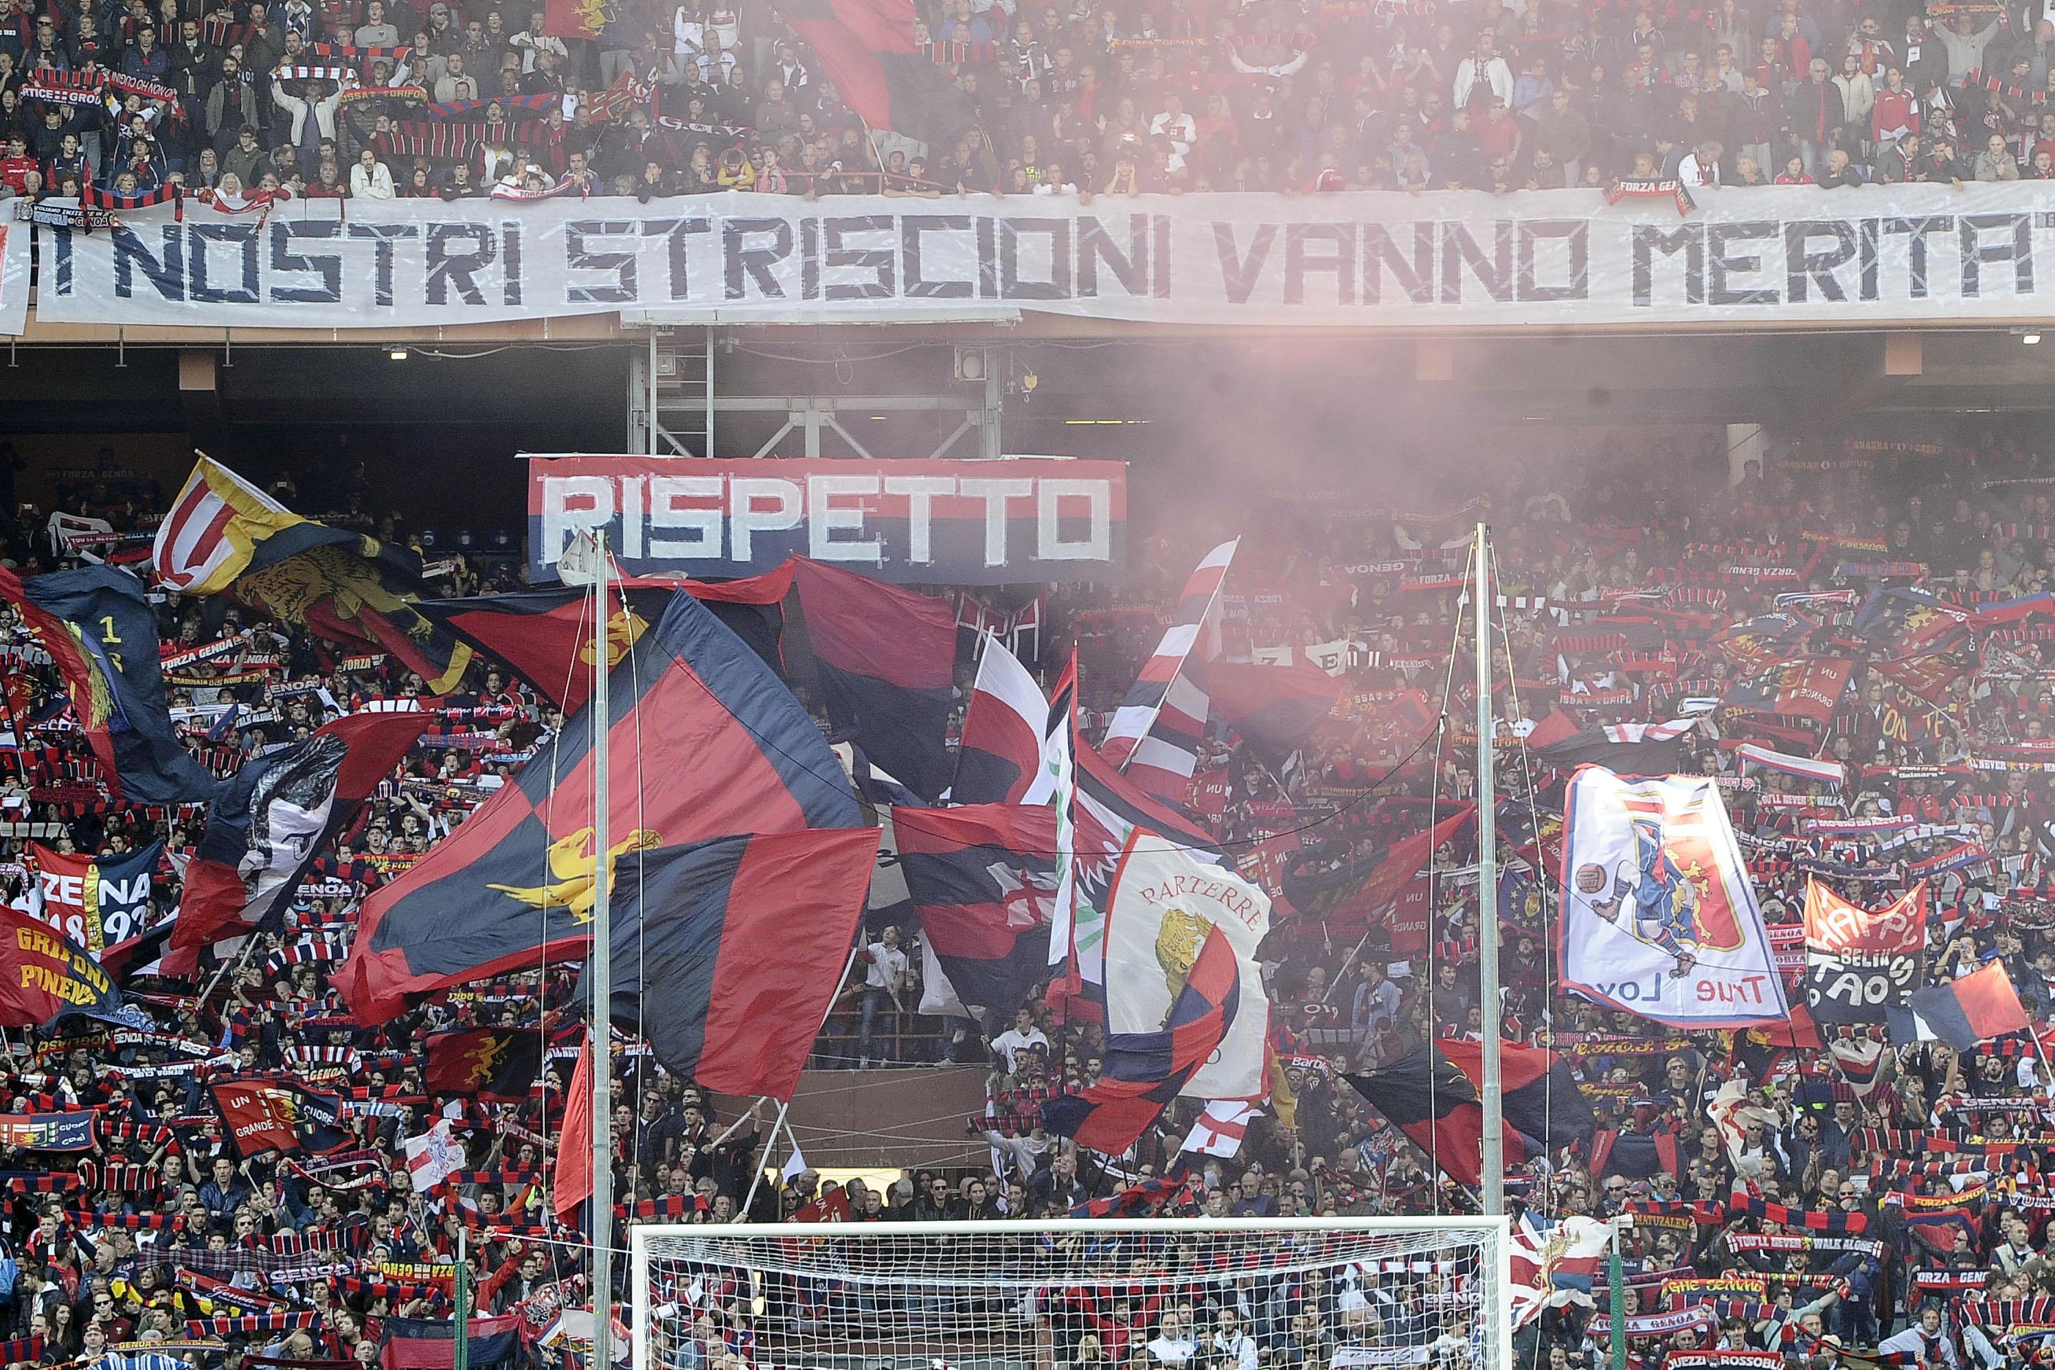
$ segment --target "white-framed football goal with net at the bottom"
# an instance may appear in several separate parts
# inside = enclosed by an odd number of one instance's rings
[[[1506,1370],[1494,1218],[631,1228],[635,1370]]]

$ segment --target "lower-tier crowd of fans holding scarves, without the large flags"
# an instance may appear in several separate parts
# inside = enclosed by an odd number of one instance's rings
[[[1566,776],[1525,741],[1529,733],[1564,719],[1667,721],[1697,700],[1689,709],[1710,709],[1718,725],[1683,735],[1685,768],[1720,776],[1773,924],[1798,918],[1808,871],[1870,906],[1928,877],[1928,974],[1940,980],[2002,959],[2034,1023],[2049,1023],[2055,916],[2045,861],[2055,801],[2041,651],[2055,635],[2024,614],[1977,629],[1973,643],[1921,639],[1911,651],[1907,633],[1919,624],[1856,626],[1878,585],[1923,583],[1967,610],[2049,587],[2055,477],[2030,444],[1967,433],[1938,444],[1792,446],[1773,452],[1767,470],[1751,462],[1734,483],[1716,431],[1681,450],[1667,440],[1576,435],[1492,460],[1490,495],[1465,499],[1478,487],[1461,472],[1447,477],[1447,505],[1422,495],[1422,505],[1391,509],[1350,491],[1301,491],[1245,530],[1223,598],[1223,655],[1332,661],[1342,676],[1340,705],[1288,756],[1262,756],[1217,729],[1190,795],[1276,896],[1262,959],[1278,1074],[1266,1109],[1241,1119],[1245,1138],[1192,1132],[1192,1103],[1167,1111],[1124,1156],[1050,1138],[1040,1107],[1095,1078],[1097,1029],[1052,1021],[1040,996],[984,1023],[917,1023],[908,1009],[921,998],[919,928],[875,926],[861,1019],[845,1002],[816,1064],[988,1066],[988,1105],[968,1130],[991,1142],[991,1167],[910,1171],[882,1189],[824,1183],[804,1169],[758,1183],[767,1154],[758,1115],[717,1115],[703,1091],[627,1048],[614,1058],[616,1216],[1469,1210],[1471,1197],[1441,1175],[1436,1156],[1342,1076],[1478,1031],[1471,836],[1451,838],[1395,912],[1348,904],[1393,842],[1473,797],[1475,739],[1461,721],[1471,705],[1445,688],[1473,678],[1457,596],[1465,530],[1478,518],[1492,522],[1500,548],[1508,854],[1545,867],[1560,836],[1552,815]],[[10,456],[0,470],[33,466]],[[164,511],[154,481],[121,468],[113,452],[97,466],[41,474],[60,511],[105,520],[111,532],[72,534],[60,555],[41,522],[12,518],[4,550],[18,573],[82,553],[138,561]],[[362,470],[298,472],[273,493],[325,509],[331,524],[421,542],[419,530],[372,501]],[[1638,516],[1621,520],[1621,509]],[[1182,571],[1217,532],[1161,526],[1118,598],[1071,589],[1050,598],[1044,641],[1025,655],[1052,674],[1077,643],[1087,731],[1108,721],[1161,633]],[[452,550],[448,540],[419,550],[429,583],[448,594],[516,587],[514,559]],[[1780,594],[1800,600],[1782,606],[1786,620],[1763,622]],[[158,614],[173,717],[193,754],[224,774],[329,715],[425,696],[395,659],[327,651],[247,606],[171,594]],[[18,731],[0,807],[27,828],[6,830],[10,865],[0,873],[14,902],[35,908],[41,889],[25,838],[58,854],[109,857],[162,842],[148,920],[169,918],[199,815],[95,803],[90,762],[66,735],[51,672],[37,665],[18,620],[10,629],[6,702]],[[1827,709],[1788,715],[1743,702],[1749,680],[1804,655],[1808,643],[1854,661]],[[497,976],[380,1029],[358,1027],[329,986],[364,893],[405,871],[561,725],[557,711],[489,663],[425,707],[452,723],[423,737],[321,857],[294,891],[282,935],[253,939],[220,963],[210,955],[197,978],[127,969],[123,986],[152,1029],[8,1033],[0,1339],[12,1341],[0,1364],[97,1360],[109,1345],[127,1356],[140,1341],[181,1343],[173,1352],[218,1358],[228,1370],[343,1370],[380,1356],[403,1364],[390,1347],[415,1335],[409,1319],[450,1317],[458,1230],[471,1236],[479,1306],[508,1315],[528,1345],[565,1345],[559,1315],[582,1298],[580,1236],[549,1216],[547,1152],[563,1124],[580,1033],[559,1017],[575,974]],[[1436,731],[1445,709],[1449,729]],[[1837,760],[1847,783],[1743,774],[1745,739]],[[1909,834],[1813,830],[1907,813],[1919,820]],[[1905,1354],[1901,1364],[1948,1370],[1965,1356],[2030,1358],[2030,1337],[2014,1329],[2055,1321],[2047,1317],[2055,1304],[2037,1302],[2055,1294],[2045,1255],[2055,1082],[2034,1039],[1971,1054],[1876,1043],[1870,1068],[1856,1070],[1850,1060],[1860,1052],[1749,1033],[1681,1035],[1603,1013],[1558,992],[1545,885],[1523,883],[1515,863],[1492,920],[1504,928],[1504,1031],[1574,1062],[1601,1130],[1521,1160],[1510,1187],[1539,1218],[1638,1218],[1628,1306],[1636,1356],[1650,1370],[1714,1343],[1815,1364],[1882,1343]],[[547,1062],[543,1082],[506,1101],[436,1089],[427,1039],[471,1027],[532,1031]],[[341,1099],[347,1146],[240,1158],[206,1084],[251,1072],[286,1072]],[[1732,1103],[1734,1089],[1739,1107],[1716,1109],[1722,1097]],[[82,1109],[90,1138],[47,1148],[55,1138],[39,1128]],[[454,1132],[466,1146],[454,1169],[440,1146],[423,1146],[444,1119],[442,1140]],[[775,1167],[781,1154],[769,1160]],[[434,1183],[417,1185],[423,1173]],[[1360,1290],[1354,1302],[1330,1294],[1360,1315]],[[1141,1345],[1147,1362],[1122,1329],[1124,1364],[1328,1366],[1342,1364],[1338,1343],[1375,1343],[1383,1327],[1356,1317],[1344,1335],[1340,1312],[1321,1321],[1328,1302],[1280,1306],[1286,1317],[1254,1321],[1208,1294],[1190,1310],[1217,1329],[1204,1356],[1184,1331],[1190,1323],[1175,1323],[1180,1308],[1155,1308],[1161,1325]],[[666,1356],[682,1368],[754,1364],[746,1300],[703,1312],[695,1335]],[[1313,1323],[1303,1325],[1301,1312]],[[1052,1315],[1073,1349],[1087,1337],[1079,1319]],[[1603,1345],[1576,1302],[1549,1308],[1523,1335],[1549,1364],[1558,1352],[1580,1364]],[[1093,1327],[1089,1337],[1108,1360],[1110,1331]]]

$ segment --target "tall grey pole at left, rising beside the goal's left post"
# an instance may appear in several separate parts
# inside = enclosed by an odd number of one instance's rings
[[[586,1041],[592,1052],[592,1370],[614,1362],[614,1138],[612,1138],[612,863],[608,861],[606,744],[612,715],[606,702],[608,668],[608,555],[606,534],[594,532],[592,575],[592,1009]]]

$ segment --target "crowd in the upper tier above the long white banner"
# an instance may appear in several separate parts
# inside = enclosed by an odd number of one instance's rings
[[[773,4],[563,10],[10,0],[0,183],[242,203],[2055,177],[2055,16],[1997,0],[921,0],[929,142],[865,127]]]

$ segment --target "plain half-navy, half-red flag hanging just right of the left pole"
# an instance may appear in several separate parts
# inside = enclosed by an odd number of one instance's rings
[[[623,857],[614,1021],[705,1089],[791,1099],[849,963],[875,857],[875,828]]]

